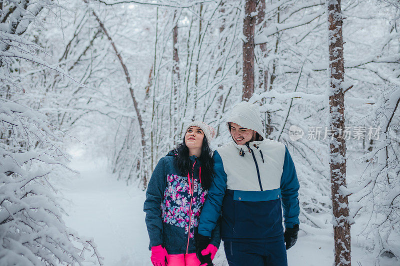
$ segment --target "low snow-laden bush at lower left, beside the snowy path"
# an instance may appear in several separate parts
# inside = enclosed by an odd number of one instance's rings
[[[65,155],[45,115],[0,98],[0,265],[57,265],[84,261],[91,240],[68,229],[46,176]]]

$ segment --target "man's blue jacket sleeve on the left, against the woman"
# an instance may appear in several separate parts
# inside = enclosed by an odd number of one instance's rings
[[[214,178],[208,190],[198,223],[198,233],[205,237],[210,237],[211,231],[216,226],[218,217],[221,214],[222,200],[226,189],[226,173],[223,170],[221,156],[217,151],[214,151],[212,158],[214,159]]]

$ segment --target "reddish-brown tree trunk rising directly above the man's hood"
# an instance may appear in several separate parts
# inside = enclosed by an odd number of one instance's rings
[[[243,19],[243,93],[242,100],[248,101],[254,92],[254,22],[256,0],[245,0]]]

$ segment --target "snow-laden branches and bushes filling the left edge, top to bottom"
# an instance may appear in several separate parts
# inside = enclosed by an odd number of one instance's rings
[[[40,24],[38,14],[51,7],[49,0],[0,2],[0,265],[81,265],[87,251],[102,265],[92,240],[65,226],[47,180],[67,162],[58,147],[61,132],[24,104],[37,84],[24,79],[23,64],[32,63],[33,72],[62,72],[25,37],[30,23]]]

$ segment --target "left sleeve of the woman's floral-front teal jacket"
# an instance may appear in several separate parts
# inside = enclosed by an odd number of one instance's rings
[[[143,211],[146,213],[146,227],[150,247],[162,244],[161,202],[166,187],[163,160],[159,160],[147,185]]]

